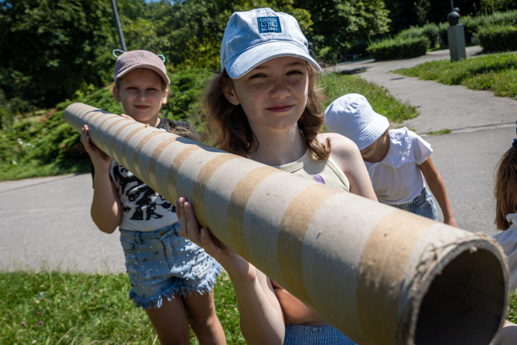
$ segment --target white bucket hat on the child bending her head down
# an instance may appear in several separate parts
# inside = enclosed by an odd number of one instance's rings
[[[363,149],[381,138],[389,127],[386,116],[373,111],[368,100],[359,94],[346,94],[330,103],[325,110],[325,126]]]

